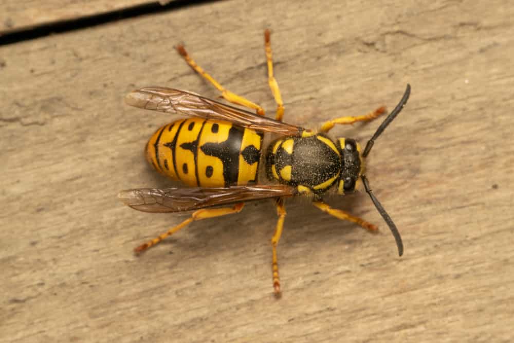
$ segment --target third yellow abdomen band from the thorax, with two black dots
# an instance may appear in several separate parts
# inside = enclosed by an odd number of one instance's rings
[[[177,174],[180,180],[189,186],[197,186],[198,180],[196,179],[194,153],[187,148],[187,145],[196,141],[204,121],[205,119],[200,118],[187,119],[182,124],[177,136],[175,146]]]

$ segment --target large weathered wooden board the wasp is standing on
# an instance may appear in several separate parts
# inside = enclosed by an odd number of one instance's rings
[[[0,341],[514,340],[514,7],[322,4],[234,0],[0,47]],[[265,28],[287,122],[392,109],[412,85],[367,172],[405,254],[363,192],[331,204],[378,224],[377,236],[288,201],[280,300],[271,203],[196,222],[138,258],[135,246],[185,217],[116,198],[171,184],[143,147],[175,117],[124,95],[218,95],[175,44],[273,115]],[[378,124],[332,134],[365,142]]]

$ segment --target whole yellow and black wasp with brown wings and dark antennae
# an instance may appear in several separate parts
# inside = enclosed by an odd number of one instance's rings
[[[282,121],[284,102],[273,76],[269,30],[264,34],[264,46],[268,83],[277,103],[274,119],[265,117],[258,104],[219,84],[182,45],[176,49],[193,70],[216,87],[225,100],[251,112],[167,87],[144,87],[126,96],[128,105],[187,117],[159,128],[146,144],[145,155],[159,173],[189,187],[131,189],[121,191],[119,197],[126,205],[144,212],[192,211],[192,214],[157,238],[136,247],[135,252],[139,254],[194,221],[240,212],[248,201],[272,199],[278,215],[271,238],[272,280],[274,293],[280,296],[277,246],[286,216],[285,199],[307,196],[321,211],[376,232],[377,226],[323,201],[328,193],[353,193],[362,182],[389,226],[401,256],[400,234],[370,188],[365,176],[365,159],[375,140],[407,103],[410,85],[362,150],[355,139],[333,139],[327,133],[336,124],[373,120],[384,114],[386,107],[361,116],[328,120],[319,130],[287,124]],[[270,137],[267,147],[265,135]]]

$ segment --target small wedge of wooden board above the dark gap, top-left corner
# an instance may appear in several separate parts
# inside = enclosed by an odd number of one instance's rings
[[[169,3],[170,1],[166,1]],[[0,36],[2,34],[29,29],[34,26],[80,19],[85,16],[130,8],[151,3],[148,0],[94,0],[87,2],[0,0]],[[164,3],[161,1],[161,3]]]

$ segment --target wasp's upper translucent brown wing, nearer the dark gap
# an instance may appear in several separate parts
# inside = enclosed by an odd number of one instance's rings
[[[145,110],[177,113],[206,119],[230,121],[261,132],[300,135],[305,129],[232,107],[203,96],[166,87],[144,87],[125,97],[131,106]]]

